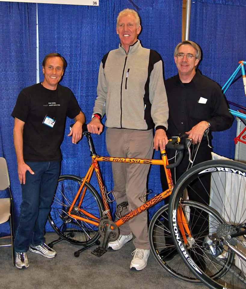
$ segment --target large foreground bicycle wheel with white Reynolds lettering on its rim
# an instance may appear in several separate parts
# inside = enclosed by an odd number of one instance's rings
[[[211,181],[210,191],[202,190],[204,176]],[[199,191],[196,184],[199,183]],[[169,227],[175,246],[192,273],[210,288],[246,287],[246,165],[232,160],[207,161],[189,169],[176,183],[169,202]],[[187,190],[200,200],[211,195],[210,203],[189,201],[182,205],[192,238],[185,242],[177,226],[180,198]],[[201,197],[202,196],[202,197]],[[182,204],[182,202],[181,202]],[[207,206],[209,205],[209,207]],[[228,235],[241,236],[228,239]],[[244,234],[245,232],[245,234]],[[226,245],[228,240],[229,246]],[[241,255],[234,254],[233,248]]]

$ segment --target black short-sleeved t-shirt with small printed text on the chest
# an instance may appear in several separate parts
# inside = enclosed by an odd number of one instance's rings
[[[66,117],[74,118],[80,110],[72,91],[65,86],[58,84],[56,90],[50,90],[38,83],[23,89],[11,115],[25,122],[24,160],[61,160]],[[56,119],[53,128],[43,124],[46,115]]]

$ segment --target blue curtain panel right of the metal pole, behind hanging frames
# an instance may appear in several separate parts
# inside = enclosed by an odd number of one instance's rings
[[[193,0],[191,3],[190,40],[203,50],[199,69],[221,86],[238,67],[238,61],[245,60],[245,9],[245,0]],[[228,89],[226,98],[246,106],[242,79]],[[217,154],[234,159],[236,125],[234,121],[228,131],[213,133]]]

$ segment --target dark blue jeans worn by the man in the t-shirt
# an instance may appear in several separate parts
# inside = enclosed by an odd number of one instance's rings
[[[60,174],[60,163],[60,160],[26,162],[35,174],[27,171],[26,183],[21,185],[22,203],[15,232],[15,252],[26,252],[30,244],[37,246],[45,242],[45,224]]]

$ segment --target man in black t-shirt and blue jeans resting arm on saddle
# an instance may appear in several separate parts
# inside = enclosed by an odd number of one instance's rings
[[[85,115],[72,91],[58,84],[66,69],[66,60],[58,53],[45,56],[44,81],[23,89],[15,104],[14,147],[22,188],[20,219],[14,250],[15,266],[29,267],[27,250],[46,258],[56,251],[45,243],[45,224],[51,209],[60,174],[66,117],[75,124],[68,136],[76,144],[82,136]]]

